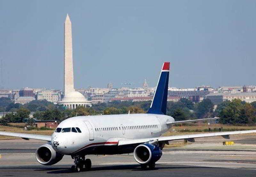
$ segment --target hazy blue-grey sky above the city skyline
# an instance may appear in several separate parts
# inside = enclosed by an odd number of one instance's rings
[[[256,1],[0,0],[4,88],[63,88],[67,13],[76,88],[256,85]]]

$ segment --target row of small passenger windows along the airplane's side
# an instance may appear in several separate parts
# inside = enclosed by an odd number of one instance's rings
[[[114,131],[114,130],[135,130],[135,129],[156,129],[157,125],[136,125],[136,126],[122,126],[122,127],[107,127],[107,128],[95,128],[95,131]]]

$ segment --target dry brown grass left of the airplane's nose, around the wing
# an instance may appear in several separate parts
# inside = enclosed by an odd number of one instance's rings
[[[16,128],[16,127],[10,127],[10,126],[0,126],[0,131],[51,136],[54,130],[29,130],[28,131],[28,130],[24,130],[22,128]],[[0,135],[0,140],[1,139],[20,139],[20,138]]]

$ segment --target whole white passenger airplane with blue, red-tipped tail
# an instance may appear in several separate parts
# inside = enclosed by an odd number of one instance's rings
[[[36,160],[43,165],[53,165],[64,155],[70,155],[75,165],[72,171],[90,170],[92,163],[85,159],[89,154],[132,153],[134,159],[145,169],[154,168],[162,156],[162,149],[169,141],[194,138],[255,133],[256,130],[202,133],[178,136],[161,136],[173,124],[218,119],[175,121],[166,114],[170,63],[164,62],[155,95],[147,114],[118,114],[77,116],[62,121],[52,136],[0,132],[0,135],[23,139],[48,141],[36,150]]]

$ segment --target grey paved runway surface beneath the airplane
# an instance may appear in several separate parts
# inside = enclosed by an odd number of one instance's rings
[[[37,140],[1,140],[0,176],[255,176],[254,150],[164,149],[155,170],[142,170],[132,154],[90,155],[92,170],[71,173],[73,159],[64,158],[53,166],[40,165],[35,158]],[[189,148],[188,148],[189,149]],[[195,146],[193,146],[195,149]]]

